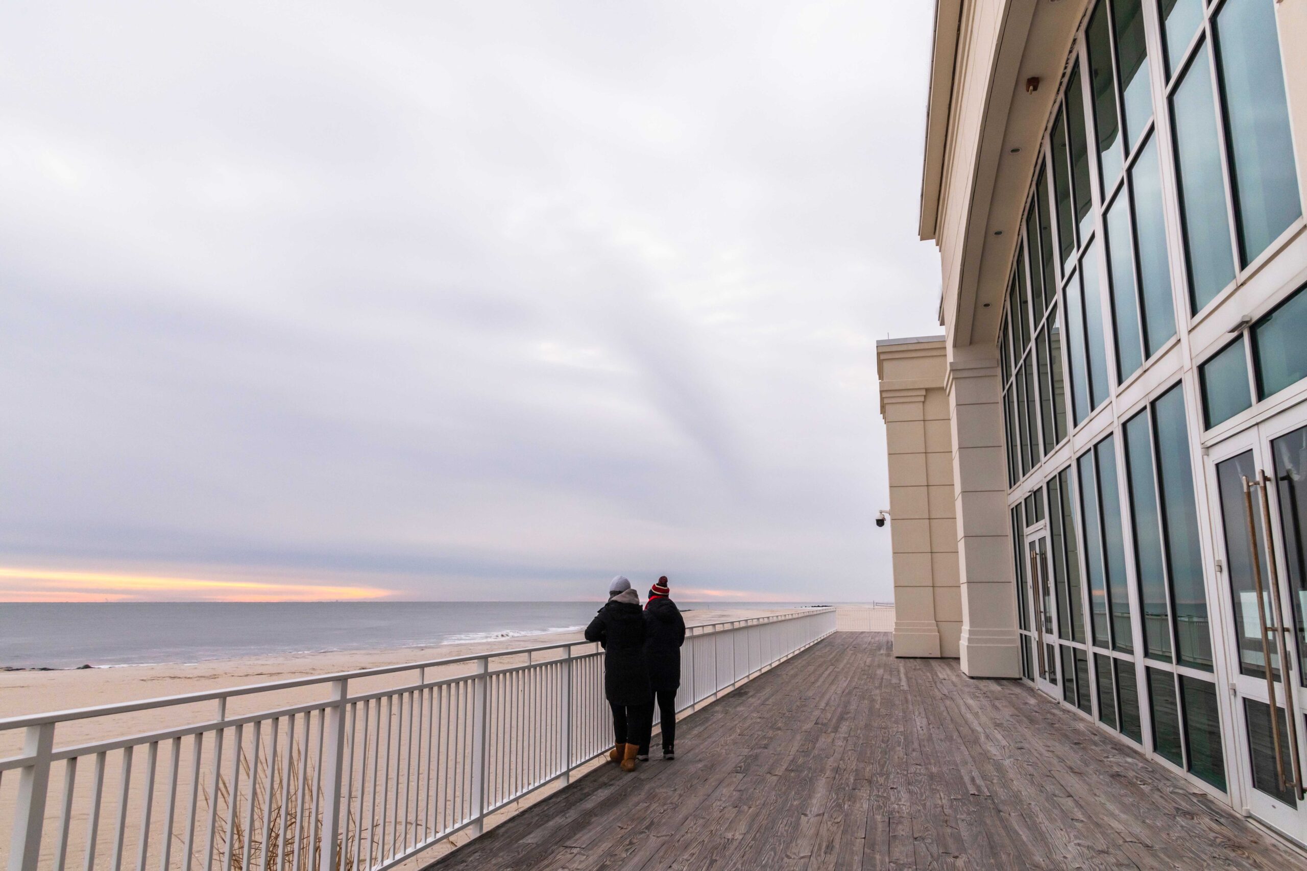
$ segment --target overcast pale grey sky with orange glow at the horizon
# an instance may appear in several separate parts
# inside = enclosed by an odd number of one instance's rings
[[[4,4],[0,598],[890,598],[929,37]]]

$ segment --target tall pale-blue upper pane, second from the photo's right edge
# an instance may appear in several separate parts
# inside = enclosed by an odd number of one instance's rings
[[[1210,76],[1208,52],[1200,51],[1171,98],[1193,312],[1234,281],[1234,252],[1230,249]]]

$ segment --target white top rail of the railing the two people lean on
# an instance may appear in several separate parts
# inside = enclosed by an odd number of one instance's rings
[[[718,623],[704,623],[699,626],[686,627],[686,631],[691,635],[711,635],[714,632],[728,632],[732,629],[737,629],[745,626],[754,626],[758,623],[779,623],[782,620],[793,620],[812,614],[823,614],[826,611],[833,611],[833,610],[834,607],[830,606],[805,607],[805,609],[796,609],[792,611],[783,611],[780,614],[766,614],[752,618],[741,618],[738,620],[719,620]],[[173,708],[176,705],[191,705],[203,701],[216,701],[218,699],[231,699],[234,696],[250,696],[260,692],[295,689],[298,687],[310,687],[314,684],[333,683],[336,680],[375,678],[387,674],[397,674],[401,671],[413,671],[416,669],[433,669],[438,666],[459,665],[463,662],[476,662],[478,659],[498,659],[503,657],[524,656],[528,653],[535,654],[535,653],[541,653],[544,650],[559,650],[563,648],[576,648],[588,644],[593,642],[558,641],[555,644],[541,644],[529,648],[514,648],[511,650],[488,650],[485,653],[469,653],[460,657],[448,657],[444,659],[423,659],[421,662],[403,662],[399,665],[379,666],[376,669],[362,669],[358,671],[337,671],[333,674],[315,675],[310,678],[291,678],[289,680],[272,680],[268,683],[255,683],[243,687],[205,689],[201,692],[188,692],[179,696],[161,696],[157,699],[140,699],[137,701],[124,701],[110,705],[94,705],[90,708],[73,708],[69,710],[51,710],[39,714],[4,717],[0,718],[0,731],[8,731],[10,729],[24,729],[27,726],[42,726],[46,723],[65,722],[71,720],[112,717],[115,714],[128,714],[128,713],[135,713],[137,710],[146,710],[149,708]]]

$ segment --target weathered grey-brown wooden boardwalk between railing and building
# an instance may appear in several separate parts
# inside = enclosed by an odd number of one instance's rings
[[[1289,868],[1303,854],[1012,680],[839,632],[431,871]]]

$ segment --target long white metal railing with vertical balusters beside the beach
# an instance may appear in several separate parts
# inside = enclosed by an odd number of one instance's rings
[[[834,631],[834,609],[690,627],[681,710]],[[429,679],[452,669],[463,673]],[[416,682],[350,692],[403,673]],[[305,689],[325,699],[229,716],[229,701]],[[197,703],[216,716],[56,743],[60,723],[162,720]],[[488,815],[612,747],[603,652],[588,642],[0,720],[0,733],[16,729],[22,752],[0,760],[9,871],[384,871],[480,833]]]

